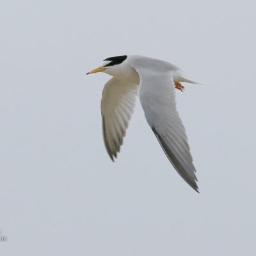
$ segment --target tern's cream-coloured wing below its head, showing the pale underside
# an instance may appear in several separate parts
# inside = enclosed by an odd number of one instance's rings
[[[104,143],[112,161],[123,144],[138,95],[138,84],[111,78],[102,92],[101,115]]]

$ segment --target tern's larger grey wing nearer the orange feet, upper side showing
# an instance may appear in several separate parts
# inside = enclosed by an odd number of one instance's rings
[[[148,124],[174,168],[198,191],[188,137],[176,109],[172,71],[157,65],[152,67],[145,61],[143,65],[135,61],[134,68],[140,76],[139,97]]]

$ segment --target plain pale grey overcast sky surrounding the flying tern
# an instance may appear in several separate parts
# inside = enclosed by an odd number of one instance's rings
[[[256,252],[256,2],[0,3],[1,256]],[[200,194],[138,101],[112,163],[102,60],[140,54],[202,83],[177,91]],[[1,240],[1,239],[0,239]]]

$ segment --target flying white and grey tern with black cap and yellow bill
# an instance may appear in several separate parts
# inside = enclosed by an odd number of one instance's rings
[[[198,82],[171,63],[138,55],[107,58],[87,74],[97,72],[113,76],[105,84],[101,100],[102,132],[111,159],[114,161],[120,152],[139,94],[148,125],[164,153],[180,176],[198,192],[188,137],[175,101],[175,88],[184,89],[180,82]]]

